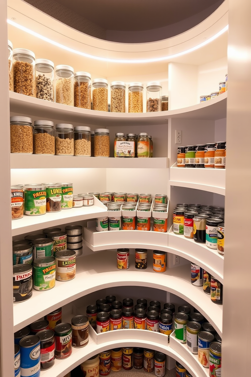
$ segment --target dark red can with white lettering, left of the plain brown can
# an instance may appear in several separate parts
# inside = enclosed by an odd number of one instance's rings
[[[72,352],[72,328],[70,323],[55,326],[55,359],[66,359]]]

